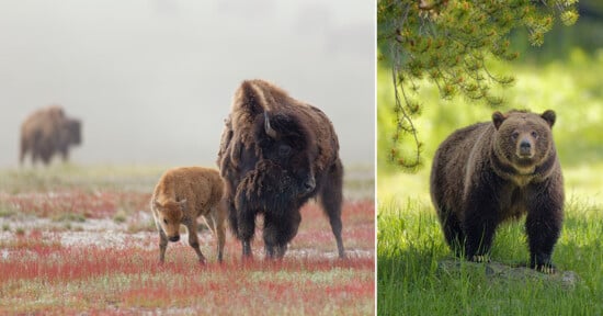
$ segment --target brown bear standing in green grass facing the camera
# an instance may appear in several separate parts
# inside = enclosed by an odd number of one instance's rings
[[[550,256],[564,221],[564,180],[550,128],[555,112],[494,112],[439,147],[431,198],[456,256],[487,260],[497,226],[527,214],[530,267],[554,273]]]

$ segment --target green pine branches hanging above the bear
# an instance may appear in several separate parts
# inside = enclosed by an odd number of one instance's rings
[[[490,64],[519,56],[511,48],[511,32],[525,29],[528,43],[542,45],[556,19],[565,25],[577,21],[576,2],[379,0],[379,59],[389,68],[394,92],[389,100],[379,101],[392,104],[395,117],[389,150],[380,155],[410,170],[421,165],[423,143],[414,120],[424,110],[425,102],[417,93],[425,81],[437,87],[444,99],[460,94],[501,104],[503,99],[492,93],[492,87],[510,84],[514,78],[507,71],[494,71]],[[408,138],[412,147],[401,145]]]

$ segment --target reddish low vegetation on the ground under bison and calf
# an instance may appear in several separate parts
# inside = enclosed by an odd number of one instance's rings
[[[118,191],[0,193],[2,205],[38,217],[73,213],[111,218],[120,210],[129,216],[150,212],[149,199],[150,193]],[[373,314],[374,214],[373,201],[343,204],[348,260],[334,259],[329,221],[314,203],[302,210],[299,233],[287,256],[277,261],[263,259],[261,232],[251,261],[241,261],[240,244],[228,235],[221,264],[215,260],[215,238],[201,232],[202,250],[209,259],[206,266],[198,264],[185,241],[170,245],[167,262],[159,264],[155,232],[116,232],[111,237],[120,235],[123,242],[111,245],[118,247],[61,244],[73,233],[94,238],[110,232],[2,232],[0,314]]]

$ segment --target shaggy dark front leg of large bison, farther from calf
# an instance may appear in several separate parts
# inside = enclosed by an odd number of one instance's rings
[[[299,210],[292,210],[285,216],[274,216],[265,214],[264,216],[264,245],[266,248],[266,259],[281,259],[287,252],[287,244],[297,235],[297,228],[302,223]]]

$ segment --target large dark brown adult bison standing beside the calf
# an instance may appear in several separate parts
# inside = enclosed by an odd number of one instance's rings
[[[302,221],[299,208],[319,198],[339,257],[343,166],[333,125],[319,109],[263,80],[243,81],[225,121],[218,153],[229,223],[251,257],[255,216],[263,214],[266,258],[282,258]]]

